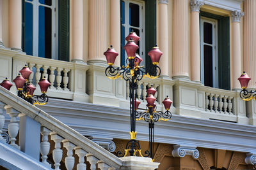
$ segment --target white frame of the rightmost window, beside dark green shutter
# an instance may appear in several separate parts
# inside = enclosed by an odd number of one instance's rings
[[[212,44],[204,43],[204,22],[212,24]],[[202,84],[204,84],[204,45],[212,46],[212,87],[218,88],[218,20],[207,17],[200,18],[200,67]]]

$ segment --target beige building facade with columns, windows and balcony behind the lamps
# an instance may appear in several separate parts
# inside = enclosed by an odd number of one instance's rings
[[[161,76],[138,84],[140,108],[150,85],[157,110],[164,111],[164,97],[173,101],[173,117],[156,123],[158,169],[252,169],[256,102],[241,100],[237,78],[245,71],[248,89],[255,89],[255,0],[0,0],[0,80],[13,80],[28,64],[35,94],[42,76],[51,83],[49,103],[38,108],[96,143],[115,145],[111,152],[124,152],[129,85],[105,75],[103,53],[113,45],[114,65],[124,66],[132,30],[145,67],[154,45],[163,52]],[[17,93],[14,83],[10,91]],[[148,150],[147,124],[137,124]]]

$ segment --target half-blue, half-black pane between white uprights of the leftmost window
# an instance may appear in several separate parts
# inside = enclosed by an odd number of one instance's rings
[[[52,10],[39,6],[38,57],[52,58]]]

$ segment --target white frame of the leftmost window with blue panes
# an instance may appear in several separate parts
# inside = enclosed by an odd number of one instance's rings
[[[33,5],[33,56],[38,56],[38,31],[39,31],[39,6],[45,6],[51,8],[52,10],[52,59],[57,59],[58,57],[58,12],[56,6],[58,6],[58,1],[52,0],[52,5],[46,5],[39,3],[39,0],[28,1],[25,3],[31,3]]]

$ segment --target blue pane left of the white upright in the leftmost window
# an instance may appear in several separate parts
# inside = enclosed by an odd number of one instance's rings
[[[25,3],[24,10],[24,52],[33,55],[33,5]]]

